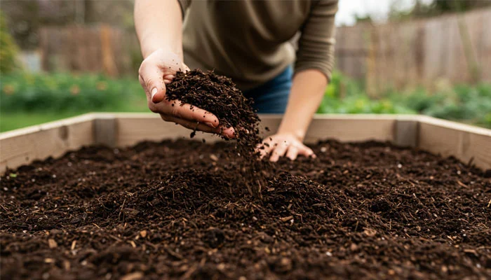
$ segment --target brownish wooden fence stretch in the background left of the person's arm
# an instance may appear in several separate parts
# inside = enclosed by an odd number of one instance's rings
[[[135,63],[141,62],[135,32],[107,25],[69,25],[43,27],[39,36],[41,64],[46,71],[136,76]]]

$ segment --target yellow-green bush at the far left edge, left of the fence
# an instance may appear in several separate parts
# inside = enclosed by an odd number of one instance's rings
[[[16,55],[18,47],[8,32],[4,13],[0,10],[0,74],[11,73],[18,66]]]

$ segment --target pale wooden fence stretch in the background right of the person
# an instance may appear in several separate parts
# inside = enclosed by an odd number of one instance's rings
[[[337,69],[371,94],[412,85],[491,81],[491,9],[337,29]]]

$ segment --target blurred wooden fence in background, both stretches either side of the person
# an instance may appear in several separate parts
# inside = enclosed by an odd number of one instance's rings
[[[376,95],[389,88],[491,81],[491,9],[386,25],[337,29],[336,66],[365,80]],[[46,71],[135,75],[141,62],[134,31],[115,27],[44,27],[41,63]]]

